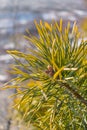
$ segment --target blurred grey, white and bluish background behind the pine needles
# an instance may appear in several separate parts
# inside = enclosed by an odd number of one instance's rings
[[[34,20],[51,22],[60,18],[66,23],[77,21],[87,37],[87,0],[0,0],[0,86],[11,79],[7,72],[13,59],[6,50],[26,50],[23,34],[36,33]],[[0,91],[0,130],[19,130],[9,115],[12,90]],[[24,129],[25,130],[25,129]]]

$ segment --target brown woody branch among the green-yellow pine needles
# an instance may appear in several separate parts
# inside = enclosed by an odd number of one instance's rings
[[[85,100],[76,90],[70,87],[67,83],[62,83],[62,85],[68,89],[77,99],[79,99],[84,105],[87,106],[87,100]]]

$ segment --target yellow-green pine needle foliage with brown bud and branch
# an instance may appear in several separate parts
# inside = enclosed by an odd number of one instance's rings
[[[87,41],[76,23],[35,21],[38,36],[29,31],[28,53],[8,51],[15,59],[14,108],[35,130],[87,130]],[[80,41],[80,43],[79,43]]]

